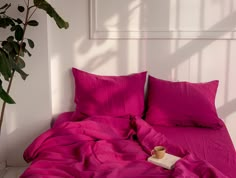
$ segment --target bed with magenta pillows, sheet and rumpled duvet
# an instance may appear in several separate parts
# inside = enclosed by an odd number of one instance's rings
[[[73,112],[25,150],[28,177],[234,178],[235,149],[214,105],[218,81],[170,82],[128,76],[98,76],[73,68]],[[171,170],[147,161],[164,146],[181,157]]]

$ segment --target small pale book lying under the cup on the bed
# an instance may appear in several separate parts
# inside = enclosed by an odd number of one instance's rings
[[[157,159],[155,158],[155,156],[150,156],[148,158],[148,161],[163,168],[172,169],[176,161],[178,161],[179,159],[181,158],[178,156],[166,153],[165,156],[161,159]]]

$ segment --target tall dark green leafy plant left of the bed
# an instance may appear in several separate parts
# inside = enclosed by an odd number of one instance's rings
[[[31,56],[30,48],[34,48],[34,41],[27,38],[26,29],[28,26],[37,27],[38,21],[33,19],[37,10],[43,10],[47,15],[53,18],[59,28],[67,29],[68,22],[64,21],[55,9],[46,0],[22,0],[18,5],[17,11],[22,13],[20,17],[12,17],[8,10],[12,8],[11,3],[0,4],[0,28],[10,34],[6,39],[0,39],[0,100],[3,100],[0,115],[0,130],[3,122],[6,104],[14,104],[15,101],[9,95],[15,73],[19,73],[25,80],[28,76],[24,72],[26,66],[25,55]],[[1,37],[0,37],[1,38]],[[7,81],[6,89],[3,86],[3,80]]]

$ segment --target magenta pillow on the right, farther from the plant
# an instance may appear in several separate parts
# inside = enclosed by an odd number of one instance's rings
[[[170,82],[149,76],[146,121],[163,126],[221,127],[215,107],[218,83]]]

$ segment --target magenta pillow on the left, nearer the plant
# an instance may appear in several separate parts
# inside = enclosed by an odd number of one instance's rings
[[[72,68],[76,115],[142,116],[146,73],[101,76]]]

